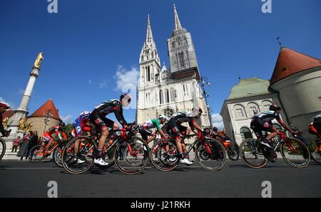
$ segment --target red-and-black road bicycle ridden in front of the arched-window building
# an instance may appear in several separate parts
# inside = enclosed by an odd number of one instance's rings
[[[303,168],[310,162],[310,152],[303,142],[299,139],[287,137],[285,129],[278,132],[277,137],[270,144],[273,144],[273,149],[261,144],[263,137],[258,139],[246,139],[240,144],[240,158],[245,164],[254,168],[260,169],[267,164],[267,161],[275,162],[277,153],[280,153],[282,158],[296,168]]]

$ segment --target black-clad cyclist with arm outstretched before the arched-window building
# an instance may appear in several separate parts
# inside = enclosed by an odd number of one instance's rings
[[[282,118],[280,117],[281,107],[277,105],[270,105],[270,108],[268,111],[260,112],[257,115],[255,115],[252,118],[251,121],[251,129],[255,132],[256,137],[258,139],[260,137],[263,137],[262,131],[271,132],[263,141],[260,141],[261,144],[265,145],[266,147],[269,147],[270,149],[273,149],[271,140],[275,136],[277,136],[277,129],[273,127],[272,120],[277,120],[279,124],[287,129],[287,131],[291,132],[292,134],[295,134],[295,132],[290,129],[290,127],[287,127],[287,125],[282,121]]]

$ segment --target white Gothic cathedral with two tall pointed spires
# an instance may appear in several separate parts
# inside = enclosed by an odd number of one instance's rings
[[[161,67],[156,43],[153,39],[151,20],[148,16],[146,41],[139,59],[140,78],[138,83],[138,123],[164,114],[171,117],[177,112],[191,112],[201,107],[203,115],[198,124],[210,126],[208,107],[200,89],[200,70],[191,34],[181,26],[174,5],[175,28],[168,38],[170,69]]]

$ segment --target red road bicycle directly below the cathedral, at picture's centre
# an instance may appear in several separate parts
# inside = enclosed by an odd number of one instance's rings
[[[195,152],[193,161],[198,161],[203,169],[216,171],[221,169],[226,161],[226,153],[223,144],[216,139],[205,138],[202,133],[186,135],[182,140],[197,136],[193,144],[188,145],[185,154],[188,156],[192,150]],[[175,145],[175,137],[170,139],[156,139],[151,148],[151,161],[161,171],[170,171],[178,166],[178,149]]]

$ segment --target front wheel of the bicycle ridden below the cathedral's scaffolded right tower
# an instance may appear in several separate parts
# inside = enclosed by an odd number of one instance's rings
[[[196,146],[195,157],[203,169],[216,171],[221,169],[225,164],[225,147],[218,140],[205,139],[205,144],[200,142]]]

